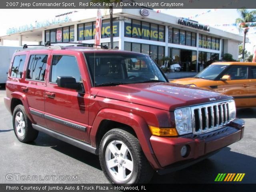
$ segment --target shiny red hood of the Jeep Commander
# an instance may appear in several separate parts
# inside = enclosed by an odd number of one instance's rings
[[[208,103],[232,97],[214,91],[172,83],[139,83],[95,87],[92,95],[173,111],[179,107]]]

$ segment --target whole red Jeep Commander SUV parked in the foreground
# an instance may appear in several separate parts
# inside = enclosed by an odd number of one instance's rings
[[[97,154],[116,184],[190,166],[244,132],[231,96],[169,83],[150,56],[120,50],[18,50],[4,102],[20,142],[41,131]]]

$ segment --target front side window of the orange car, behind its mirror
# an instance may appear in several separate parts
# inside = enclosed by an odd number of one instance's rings
[[[226,72],[225,75],[229,75],[231,80],[247,79],[247,71],[247,66],[233,65],[230,67],[230,69]]]

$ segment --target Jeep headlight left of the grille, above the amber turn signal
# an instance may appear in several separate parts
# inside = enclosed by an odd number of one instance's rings
[[[192,116],[190,107],[176,109],[174,111],[176,130],[178,134],[192,133]]]

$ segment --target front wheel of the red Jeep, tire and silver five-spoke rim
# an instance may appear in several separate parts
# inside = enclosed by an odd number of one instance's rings
[[[99,157],[102,171],[112,184],[148,183],[154,174],[138,139],[119,128],[103,136]]]

